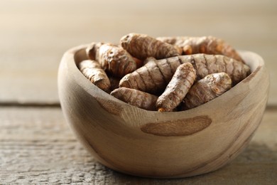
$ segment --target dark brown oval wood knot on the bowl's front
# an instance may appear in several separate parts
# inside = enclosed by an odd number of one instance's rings
[[[142,132],[158,136],[186,136],[209,127],[212,120],[207,115],[168,122],[152,122],[141,127]]]

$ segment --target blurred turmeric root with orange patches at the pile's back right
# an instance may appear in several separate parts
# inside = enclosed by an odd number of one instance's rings
[[[213,36],[202,37],[158,37],[159,41],[170,43],[183,49],[184,55],[196,53],[224,55],[243,62],[239,53],[228,43]]]

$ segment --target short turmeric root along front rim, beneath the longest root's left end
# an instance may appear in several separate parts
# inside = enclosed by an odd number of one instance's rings
[[[158,98],[156,95],[129,88],[118,88],[113,90],[111,95],[144,110],[156,110],[155,105]]]

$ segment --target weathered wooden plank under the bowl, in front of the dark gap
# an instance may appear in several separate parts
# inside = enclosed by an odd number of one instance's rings
[[[209,174],[147,179],[95,162],[59,108],[0,108],[0,184],[276,184],[277,112],[268,110],[249,147]]]

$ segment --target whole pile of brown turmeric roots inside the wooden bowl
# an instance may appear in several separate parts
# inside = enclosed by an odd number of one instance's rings
[[[222,39],[129,33],[120,44],[91,43],[80,71],[130,105],[160,112],[188,110],[222,95],[250,68]]]

